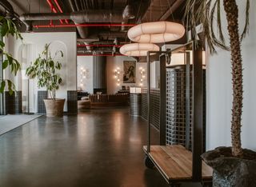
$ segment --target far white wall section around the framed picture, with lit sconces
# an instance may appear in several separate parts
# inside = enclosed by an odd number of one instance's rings
[[[139,68],[142,67],[144,70],[147,70],[145,62],[136,62],[136,83],[122,83],[123,61],[136,61],[136,60],[134,58],[130,58],[126,56],[118,56],[118,57],[108,57],[106,61],[107,61],[106,69],[107,69],[107,93],[108,94],[117,93],[118,90],[122,89],[122,86],[140,86],[141,76],[139,73]],[[114,78],[114,70],[118,67],[121,70],[120,86],[117,85],[117,80]],[[143,79],[142,86],[146,86],[146,76]]]

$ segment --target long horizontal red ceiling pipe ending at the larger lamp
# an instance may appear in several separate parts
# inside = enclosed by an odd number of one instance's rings
[[[49,27],[77,27],[77,26],[82,26],[82,27],[90,27],[90,26],[136,26],[135,24],[66,24],[66,25],[37,25],[33,26],[34,28],[49,28]]]

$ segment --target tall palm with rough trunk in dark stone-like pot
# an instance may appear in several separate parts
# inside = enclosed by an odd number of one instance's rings
[[[214,169],[214,186],[251,187],[256,185],[256,153],[250,149],[242,149],[242,55],[241,41],[248,32],[250,0],[246,3],[246,21],[242,35],[238,32],[238,4],[236,0],[187,0],[187,26],[196,35],[196,26],[202,24],[204,38],[211,54],[216,53],[216,47],[230,50],[233,106],[231,119],[232,147],[218,147],[202,154],[206,164]],[[226,13],[227,31],[230,46],[226,46],[222,34],[221,6]],[[217,28],[216,28],[216,27]]]

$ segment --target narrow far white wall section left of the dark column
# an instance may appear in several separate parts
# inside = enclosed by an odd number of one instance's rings
[[[93,56],[78,56],[78,90],[94,93]],[[81,69],[86,70],[86,76],[82,76]],[[82,84],[82,85],[81,85]]]

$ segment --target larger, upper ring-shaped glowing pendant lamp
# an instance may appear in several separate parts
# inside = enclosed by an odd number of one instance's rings
[[[128,30],[128,38],[139,43],[171,42],[184,34],[184,26],[177,22],[145,22]]]

